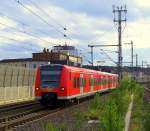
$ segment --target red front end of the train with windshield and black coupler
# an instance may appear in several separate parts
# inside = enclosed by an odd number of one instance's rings
[[[37,69],[35,96],[42,105],[55,105],[58,96],[65,95],[62,65],[43,65]]]

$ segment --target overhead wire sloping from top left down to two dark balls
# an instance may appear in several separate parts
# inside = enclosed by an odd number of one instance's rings
[[[53,26],[52,24],[48,23],[45,19],[43,19],[40,15],[38,15],[37,13],[35,13],[33,10],[31,10],[30,8],[26,7],[22,2],[20,2],[19,0],[14,0],[15,2],[17,2],[18,4],[20,4],[24,9],[28,10],[30,13],[32,13],[33,15],[35,15],[36,17],[38,17],[42,22],[44,22],[45,24],[47,24],[49,27],[52,27],[53,29],[55,29],[57,32],[59,32],[60,34],[64,35],[63,32],[59,31],[58,29],[55,28],[55,26]]]

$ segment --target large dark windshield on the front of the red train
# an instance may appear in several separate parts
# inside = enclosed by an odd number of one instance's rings
[[[41,67],[41,86],[57,87],[61,77],[61,65],[46,65]]]

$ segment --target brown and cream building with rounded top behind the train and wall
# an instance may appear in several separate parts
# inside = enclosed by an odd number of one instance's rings
[[[44,64],[65,64],[70,66],[82,65],[82,58],[78,56],[74,46],[54,46],[51,51],[44,48],[42,52],[32,53],[32,58],[4,59],[0,65],[9,65],[25,68],[36,68]]]

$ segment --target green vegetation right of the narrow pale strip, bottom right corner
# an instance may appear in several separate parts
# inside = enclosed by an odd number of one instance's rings
[[[150,131],[150,103],[143,100],[143,89],[135,89],[130,131]]]

